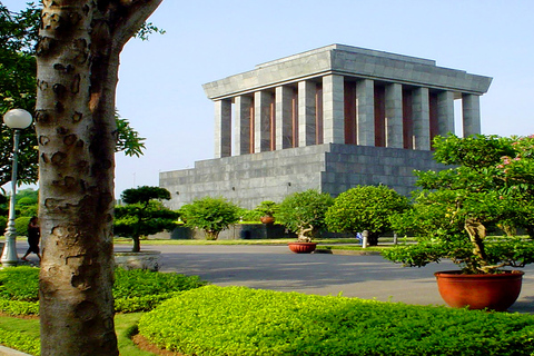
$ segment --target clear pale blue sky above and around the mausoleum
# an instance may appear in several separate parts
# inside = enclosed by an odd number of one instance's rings
[[[147,138],[147,151],[117,155],[117,195],[214,157],[202,83],[332,43],[493,77],[481,99],[483,134],[534,134],[531,0],[165,0],[149,21],[167,33],[126,46],[117,89],[119,112]]]

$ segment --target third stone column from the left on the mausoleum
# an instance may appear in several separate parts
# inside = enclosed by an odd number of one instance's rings
[[[270,92],[254,93],[254,152],[270,150]]]

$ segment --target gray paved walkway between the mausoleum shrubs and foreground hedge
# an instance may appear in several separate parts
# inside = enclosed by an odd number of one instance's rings
[[[116,250],[128,250],[119,245]],[[380,256],[289,251],[287,246],[150,246],[161,251],[161,271],[198,275],[219,286],[338,295],[415,305],[445,305],[434,273],[457,269],[449,261],[405,268]],[[534,266],[523,268],[523,290],[510,312],[534,313]]]

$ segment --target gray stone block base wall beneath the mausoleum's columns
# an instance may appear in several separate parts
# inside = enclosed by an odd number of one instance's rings
[[[171,192],[171,209],[205,196],[251,209],[310,188],[336,197],[357,185],[383,184],[407,196],[414,169],[443,168],[432,151],[325,144],[197,161],[194,169],[160,172],[159,185]]]

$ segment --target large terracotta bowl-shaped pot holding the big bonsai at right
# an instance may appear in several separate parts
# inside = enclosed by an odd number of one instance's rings
[[[434,274],[445,303],[453,308],[507,310],[521,293],[523,271],[498,275],[462,275],[459,270]]]

